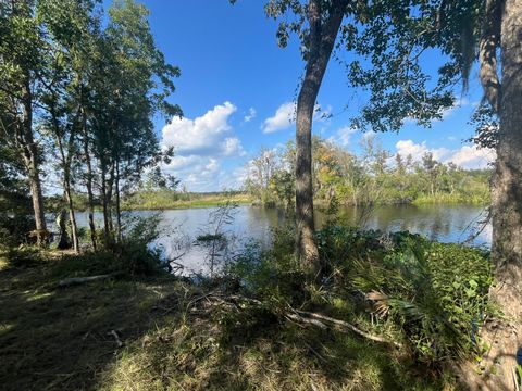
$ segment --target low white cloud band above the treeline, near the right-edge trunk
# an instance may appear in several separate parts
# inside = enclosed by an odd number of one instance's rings
[[[467,169],[486,168],[495,161],[496,153],[488,148],[477,148],[476,146],[462,146],[457,150],[447,148],[428,148],[426,142],[415,143],[412,140],[400,140],[395,144],[397,153],[402,156],[411,155],[413,161],[421,161],[426,152],[433,153],[433,157],[443,163],[452,162]]]

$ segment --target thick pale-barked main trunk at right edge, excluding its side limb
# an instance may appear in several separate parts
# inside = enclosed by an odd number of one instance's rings
[[[508,324],[497,333],[500,378],[514,389],[517,350],[522,348],[522,2],[506,0],[501,24],[500,133],[493,202],[493,248],[497,285],[492,299]],[[498,388],[497,388],[498,389]]]

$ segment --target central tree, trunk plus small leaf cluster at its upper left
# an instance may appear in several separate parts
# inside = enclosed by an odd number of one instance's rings
[[[314,241],[312,186],[312,119],[319,89],[334,49],[348,0],[299,1],[272,0],[266,14],[279,17],[287,10],[298,15],[291,24],[282,23],[277,37],[286,46],[287,28],[299,31],[304,43],[304,77],[297,98],[296,113],[296,247],[303,270],[315,278],[320,273],[319,251]]]

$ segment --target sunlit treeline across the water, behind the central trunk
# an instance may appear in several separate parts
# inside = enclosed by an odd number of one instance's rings
[[[361,155],[315,137],[312,146],[313,193],[316,203],[408,204],[488,203],[490,169],[463,169],[437,162],[391,154],[374,137],[364,138]],[[295,144],[261,149],[247,166],[245,188],[266,205],[291,206],[295,194]]]

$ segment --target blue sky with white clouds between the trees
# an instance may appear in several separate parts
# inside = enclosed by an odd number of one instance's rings
[[[140,2],[150,10],[157,46],[182,70],[170,100],[181,105],[184,117],[170,125],[154,119],[161,144],[175,148],[175,157],[163,169],[189,191],[239,188],[246,164],[261,147],[278,148],[295,137],[294,102],[304,66],[297,38],[278,48],[277,22],[265,17],[264,0],[238,0],[235,5],[228,0]],[[481,87],[472,83],[432,128],[407,121],[399,133],[378,134],[378,140],[394,154],[420,159],[431,151],[442,162],[486,167],[494,153],[463,142],[473,135],[468,121],[481,97]],[[318,98],[321,112],[331,115],[318,115],[313,133],[359,153],[359,141],[368,134],[353,129],[350,118],[362,104],[343,66],[331,61]]]

